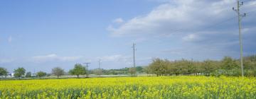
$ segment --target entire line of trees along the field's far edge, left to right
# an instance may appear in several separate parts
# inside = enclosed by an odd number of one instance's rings
[[[245,76],[256,76],[256,55],[248,56],[244,58],[244,71]],[[125,67],[122,69],[92,69],[88,70],[86,66],[82,64],[75,64],[73,69],[65,72],[60,67],[52,69],[51,74],[47,74],[44,71],[38,71],[36,74],[31,74],[30,71],[26,72],[23,67],[14,69],[14,77],[16,78],[31,78],[37,76],[38,78],[44,76],[60,76],[70,74],[77,78],[80,75],[89,77],[89,74],[96,75],[119,75],[119,74],[156,74],[156,76],[173,76],[173,75],[203,75],[203,76],[240,76],[241,68],[239,59],[233,59],[232,57],[223,57],[223,59],[216,60],[204,60],[194,61],[193,59],[181,59],[170,61],[168,59],[153,59],[149,66],[136,66],[135,68]],[[9,74],[7,69],[0,67],[0,77],[4,78]]]

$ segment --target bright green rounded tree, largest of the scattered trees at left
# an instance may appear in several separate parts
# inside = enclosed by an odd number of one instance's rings
[[[82,66],[82,64],[75,64],[75,68],[71,69],[69,71],[69,74],[76,75],[79,78],[79,75],[86,74],[86,68],[85,68],[85,66]]]

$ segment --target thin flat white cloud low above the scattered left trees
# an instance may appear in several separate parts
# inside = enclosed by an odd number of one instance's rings
[[[61,62],[72,62],[82,59],[82,57],[60,57],[57,54],[47,54],[43,56],[32,57],[33,61],[36,62],[48,62],[48,61],[61,61]]]

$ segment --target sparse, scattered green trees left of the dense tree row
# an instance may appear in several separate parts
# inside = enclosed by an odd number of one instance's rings
[[[46,72],[43,72],[43,71],[38,71],[36,74],[31,74],[31,71],[26,72],[26,69],[24,69],[23,67],[18,67],[18,69],[14,69],[14,76],[16,78],[22,78],[22,77],[31,78],[34,76],[41,78],[43,76],[54,75],[54,76],[57,76],[57,78],[59,78],[60,76],[63,76],[65,74],[70,74],[70,75],[75,75],[79,78],[80,75],[85,75],[86,77],[89,77],[89,74],[96,74],[97,76],[100,76],[102,74],[105,74],[105,75],[134,74],[134,71],[135,71],[134,69],[127,68],[127,67],[122,69],[88,70],[85,66],[82,66],[82,64],[75,64],[74,68],[70,69],[70,71],[68,72],[65,72],[64,69],[61,69],[60,67],[55,67],[52,69],[51,74],[47,74]],[[142,73],[144,72],[144,68],[142,66],[137,66],[136,71],[137,73]],[[7,71],[7,69],[0,67],[0,77],[7,76],[8,74],[9,72]]]

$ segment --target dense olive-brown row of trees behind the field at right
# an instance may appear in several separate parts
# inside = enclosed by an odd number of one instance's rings
[[[245,76],[256,76],[256,55],[245,57]],[[203,62],[181,59],[169,61],[167,59],[154,59],[145,67],[147,74],[157,76],[171,75],[205,75],[205,76],[240,76],[239,59],[224,57],[220,61],[205,60]]]

